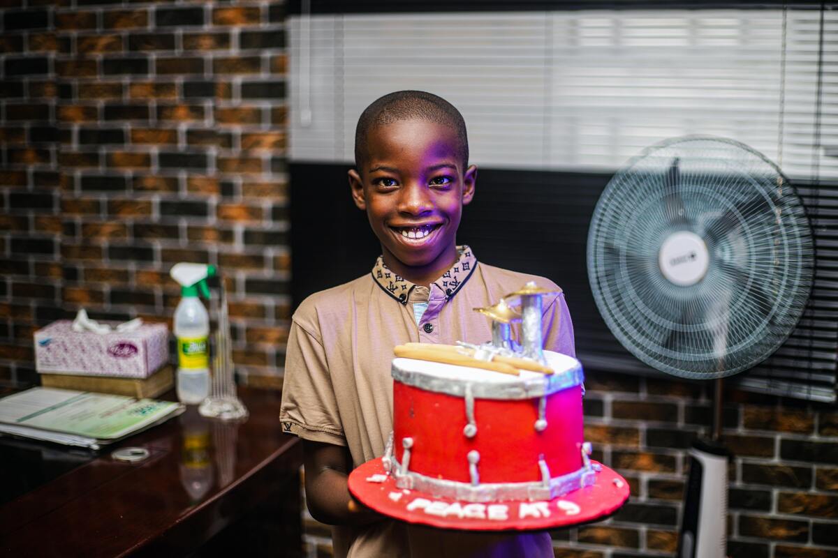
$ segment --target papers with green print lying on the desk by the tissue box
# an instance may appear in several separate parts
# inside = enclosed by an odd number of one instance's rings
[[[0,399],[0,433],[96,448],[183,409],[176,402],[34,387]]]

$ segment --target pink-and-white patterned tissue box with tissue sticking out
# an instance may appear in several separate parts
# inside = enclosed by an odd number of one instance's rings
[[[35,331],[35,368],[48,374],[146,378],[168,362],[168,327],[142,324],[129,333],[78,332],[70,320]]]

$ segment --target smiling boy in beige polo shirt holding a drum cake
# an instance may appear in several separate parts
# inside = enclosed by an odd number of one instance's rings
[[[392,429],[393,347],[491,338],[474,308],[527,281],[478,264],[456,243],[477,167],[463,116],[446,100],[398,91],[367,107],[355,131],[349,187],[381,244],[372,273],[313,294],[292,319],[280,419],[303,438],[306,497],[333,529],[336,556],[552,556],[546,533],[485,535],[388,520],[355,501],[347,475],[380,457]],[[545,347],[574,355],[563,295],[544,301]],[[444,420],[444,417],[441,417]]]

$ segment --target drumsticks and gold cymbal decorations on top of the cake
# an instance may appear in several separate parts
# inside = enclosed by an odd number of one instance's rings
[[[492,340],[482,345],[458,341],[457,345],[406,343],[396,346],[396,356],[442,362],[519,376],[521,370],[552,374],[541,348],[541,297],[561,289],[544,289],[530,281],[504,296],[498,304],[474,310],[492,320]],[[515,306],[520,306],[520,310]],[[512,339],[510,325],[521,322],[520,342]]]

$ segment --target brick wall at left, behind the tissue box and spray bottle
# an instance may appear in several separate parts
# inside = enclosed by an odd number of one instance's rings
[[[168,320],[220,265],[234,361],[278,385],[289,316],[284,6],[3,2],[0,378],[80,307]]]

